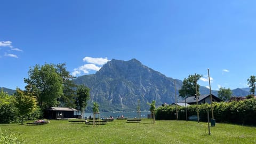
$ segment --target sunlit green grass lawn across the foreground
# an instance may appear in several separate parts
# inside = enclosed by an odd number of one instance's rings
[[[115,120],[106,125],[69,123],[65,120],[45,125],[1,124],[26,143],[256,143],[256,127],[186,121],[142,119],[140,123]]]

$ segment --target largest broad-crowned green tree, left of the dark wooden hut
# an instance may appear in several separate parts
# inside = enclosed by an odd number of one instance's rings
[[[26,91],[36,96],[41,109],[58,105],[57,99],[63,93],[62,78],[53,64],[45,63],[29,69],[28,78],[24,78]]]

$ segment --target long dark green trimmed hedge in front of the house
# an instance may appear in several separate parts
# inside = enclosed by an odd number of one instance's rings
[[[232,102],[214,102],[212,104],[213,115],[216,122],[256,125],[256,99]],[[186,120],[185,107],[178,106],[178,119]],[[200,121],[207,122],[207,111],[211,118],[211,105],[205,103],[198,105]],[[176,119],[176,107],[174,105],[157,108],[156,119]],[[188,117],[197,115],[197,105],[187,107]]]

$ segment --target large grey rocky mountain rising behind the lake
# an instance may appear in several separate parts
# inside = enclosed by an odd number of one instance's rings
[[[77,77],[74,82],[90,88],[88,110],[94,101],[99,103],[101,111],[136,110],[138,100],[141,110],[149,110],[147,102],[153,100],[156,100],[156,106],[175,102],[174,79],[142,65],[136,59],[113,59],[96,74]],[[175,79],[175,82],[178,97],[182,81]]]

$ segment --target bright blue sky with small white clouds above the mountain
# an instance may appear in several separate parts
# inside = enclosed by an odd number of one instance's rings
[[[255,74],[256,1],[1,1],[0,87],[24,89],[29,67],[93,74],[138,59],[167,77],[201,74],[212,90]]]

